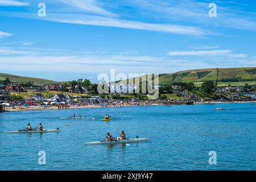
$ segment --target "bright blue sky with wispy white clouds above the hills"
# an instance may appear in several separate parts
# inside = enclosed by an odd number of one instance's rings
[[[46,17],[38,4],[46,4]],[[216,3],[217,16],[208,15]],[[0,72],[56,81],[98,73],[256,67],[256,2],[0,0]]]

